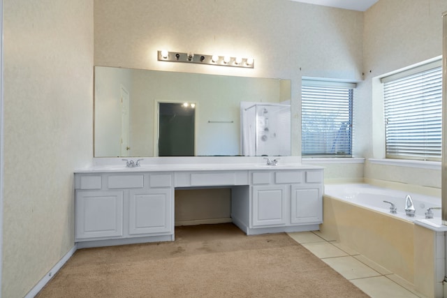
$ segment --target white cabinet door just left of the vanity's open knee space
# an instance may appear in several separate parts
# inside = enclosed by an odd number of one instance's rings
[[[129,234],[171,232],[170,189],[131,191]]]

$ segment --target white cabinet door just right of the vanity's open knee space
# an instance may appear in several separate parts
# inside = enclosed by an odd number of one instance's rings
[[[286,224],[286,186],[253,187],[253,225]]]

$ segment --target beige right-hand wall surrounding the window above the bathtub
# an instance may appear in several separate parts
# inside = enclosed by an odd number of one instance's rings
[[[442,54],[444,0],[380,0],[365,12],[363,37],[365,80],[355,104],[356,151],[383,158],[381,102],[373,78]],[[373,113],[371,112],[373,111]],[[423,172],[421,172],[423,171]],[[441,188],[441,170],[366,163],[365,178]]]

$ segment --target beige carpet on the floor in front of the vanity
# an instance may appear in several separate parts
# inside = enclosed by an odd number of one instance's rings
[[[78,250],[37,297],[368,296],[287,234],[247,236],[228,223]]]

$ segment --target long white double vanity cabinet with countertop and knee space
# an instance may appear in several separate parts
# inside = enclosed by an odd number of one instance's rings
[[[318,230],[323,222],[322,167],[95,166],[75,172],[75,241],[78,248],[174,241],[175,189],[212,187],[231,188],[231,220],[246,234]]]

